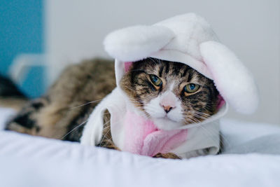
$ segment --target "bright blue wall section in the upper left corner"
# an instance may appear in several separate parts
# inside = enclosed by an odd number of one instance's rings
[[[20,53],[43,53],[42,0],[0,1],[0,74],[8,75],[8,67]],[[38,76],[38,69],[36,72]],[[28,78],[36,77],[31,74]],[[36,80],[40,82],[38,77]],[[32,88],[24,90],[29,90],[27,95],[32,96],[40,92],[31,93]]]

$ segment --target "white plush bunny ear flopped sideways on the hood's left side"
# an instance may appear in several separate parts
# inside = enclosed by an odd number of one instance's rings
[[[174,38],[174,32],[163,26],[134,26],[116,30],[106,36],[107,53],[123,62],[134,62],[149,57]]]

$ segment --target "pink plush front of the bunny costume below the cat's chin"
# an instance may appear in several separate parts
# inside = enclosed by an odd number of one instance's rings
[[[186,141],[188,130],[158,130],[153,121],[136,113],[125,114],[125,145],[123,151],[153,156],[169,153]]]

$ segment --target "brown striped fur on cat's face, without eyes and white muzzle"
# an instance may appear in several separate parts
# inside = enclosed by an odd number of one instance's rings
[[[163,84],[160,88],[151,83],[150,74],[162,79]],[[200,90],[193,94],[183,92],[183,86],[193,82],[201,85]],[[185,125],[200,122],[216,113],[218,90],[214,82],[182,63],[152,58],[141,60],[134,63],[131,70],[125,74],[121,87],[132,98],[132,102],[137,101],[135,105],[144,111],[144,104],[165,92],[165,85],[170,83],[175,83],[172,91],[183,104]],[[146,115],[148,116],[148,113]]]

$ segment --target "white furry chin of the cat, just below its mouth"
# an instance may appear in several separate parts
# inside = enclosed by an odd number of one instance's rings
[[[174,130],[176,128],[182,127],[183,124],[170,120],[169,118],[153,118],[153,123],[160,130]]]

